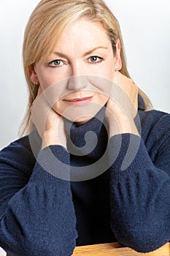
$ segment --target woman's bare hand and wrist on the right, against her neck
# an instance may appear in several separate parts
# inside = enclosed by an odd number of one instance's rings
[[[139,135],[134,124],[138,109],[138,92],[139,89],[131,78],[127,78],[118,71],[115,72],[106,110],[110,137],[123,133]]]

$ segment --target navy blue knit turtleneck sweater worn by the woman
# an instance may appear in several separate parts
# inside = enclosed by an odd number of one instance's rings
[[[109,140],[104,109],[99,116],[72,126],[67,150],[40,150],[35,130],[1,151],[0,246],[10,256],[69,256],[112,241],[150,252],[170,240],[170,115],[144,111],[140,99],[141,137]],[[97,138],[85,144],[89,131]]]

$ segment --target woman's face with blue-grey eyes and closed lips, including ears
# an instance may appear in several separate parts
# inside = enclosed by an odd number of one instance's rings
[[[34,65],[31,81],[39,81],[57,113],[83,123],[106,104],[117,62],[120,45],[114,56],[102,24],[80,19],[63,31],[54,52]]]

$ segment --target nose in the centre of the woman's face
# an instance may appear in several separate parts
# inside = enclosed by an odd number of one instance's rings
[[[85,87],[88,86],[88,79],[84,73],[80,63],[72,65],[72,76],[69,78],[69,89],[78,91],[85,89]]]

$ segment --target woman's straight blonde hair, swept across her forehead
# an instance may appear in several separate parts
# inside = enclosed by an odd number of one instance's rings
[[[28,133],[33,125],[30,121],[30,108],[36,98],[38,86],[31,83],[30,67],[40,58],[47,58],[53,52],[63,30],[80,18],[88,18],[103,24],[116,51],[120,39],[122,68],[120,72],[130,78],[128,73],[123,39],[117,19],[102,0],[42,0],[32,12],[26,26],[23,40],[23,68],[28,83],[28,108],[23,121],[23,133]],[[151,107],[150,100],[139,89],[146,109]]]

